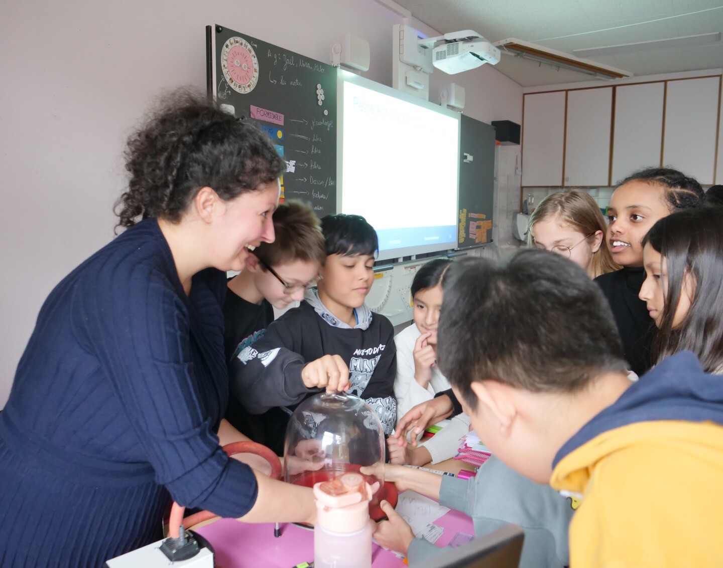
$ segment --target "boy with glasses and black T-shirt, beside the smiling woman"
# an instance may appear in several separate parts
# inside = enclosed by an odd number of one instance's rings
[[[285,310],[291,302],[304,299],[307,288],[316,284],[326,258],[320,222],[309,206],[298,201],[279,205],[273,214],[273,227],[273,243],[254,248],[244,270],[228,280],[223,344],[229,364],[263,336],[274,319],[273,308]],[[279,437],[283,440],[283,432],[274,428],[277,411],[251,416],[232,392],[226,419],[255,442],[270,445]]]

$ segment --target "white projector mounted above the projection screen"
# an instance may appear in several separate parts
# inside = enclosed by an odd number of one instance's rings
[[[469,71],[486,63],[500,62],[500,50],[472,30],[450,32],[437,38],[419,40],[419,44],[432,48],[432,65],[450,75]]]

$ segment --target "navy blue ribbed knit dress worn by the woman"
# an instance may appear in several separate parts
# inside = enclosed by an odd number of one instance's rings
[[[1,567],[102,566],[161,538],[171,496],[252,507],[252,471],[215,436],[225,293],[214,269],[184,293],[153,219],[51,292],[0,412]]]

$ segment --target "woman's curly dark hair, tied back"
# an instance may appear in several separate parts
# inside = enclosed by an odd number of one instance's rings
[[[228,200],[286,169],[262,131],[186,89],[163,98],[129,136],[125,157],[130,180],[116,201],[116,227],[131,227],[139,217],[178,222],[200,188]]]

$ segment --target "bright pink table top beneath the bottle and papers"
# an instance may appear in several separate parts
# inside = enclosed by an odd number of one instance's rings
[[[447,546],[457,533],[474,535],[472,520],[451,510],[435,525],[445,531],[437,546]],[[220,519],[197,530],[215,549],[219,568],[291,568],[314,559],[314,532],[288,523],[281,524],[281,536],[274,538],[273,524],[252,525],[234,519]],[[372,566],[402,568],[402,559],[393,552],[372,544]]]

